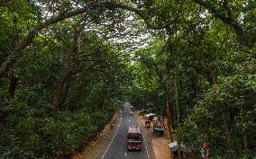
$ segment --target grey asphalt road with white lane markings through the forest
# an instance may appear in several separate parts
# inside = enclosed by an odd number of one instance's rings
[[[125,140],[130,125],[139,124],[138,119],[134,115],[129,114],[128,103],[124,104],[124,110],[117,120],[114,132],[108,137],[105,146],[102,148],[96,158],[99,159],[155,159],[151,144],[149,143],[149,132],[141,126],[143,142],[142,151],[127,151]]]

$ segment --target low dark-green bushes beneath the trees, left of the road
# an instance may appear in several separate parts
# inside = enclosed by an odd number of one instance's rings
[[[39,116],[33,109],[21,111],[21,108],[23,106],[13,110],[1,126],[0,158],[62,158],[72,155],[110,118],[109,113],[97,111],[88,114],[86,109],[51,113],[45,109]]]

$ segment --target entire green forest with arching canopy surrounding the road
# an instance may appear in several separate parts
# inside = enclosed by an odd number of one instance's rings
[[[129,101],[252,159],[255,22],[253,0],[0,0],[0,158],[69,158]]]

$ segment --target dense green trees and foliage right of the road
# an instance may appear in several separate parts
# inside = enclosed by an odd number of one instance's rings
[[[252,158],[255,3],[193,2],[145,1],[144,12],[155,24],[171,24],[146,49],[136,51],[138,77],[131,101],[165,108],[176,134],[172,139],[184,142],[197,158],[204,141],[215,158]]]

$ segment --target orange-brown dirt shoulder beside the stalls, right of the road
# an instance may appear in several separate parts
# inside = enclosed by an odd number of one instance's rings
[[[144,126],[145,119],[143,119],[142,116],[138,116],[137,114],[136,114],[136,117],[140,120],[141,125]],[[163,137],[155,137],[153,135],[152,125],[153,125],[153,123],[151,122],[151,128],[149,128],[151,133],[150,133],[149,138],[151,140],[150,141],[151,146],[153,148],[153,153],[154,153],[156,159],[171,159],[172,155],[170,154],[170,151],[169,151],[170,138],[169,138],[167,128],[165,129]],[[158,122],[158,125],[160,125],[159,122]]]

